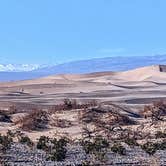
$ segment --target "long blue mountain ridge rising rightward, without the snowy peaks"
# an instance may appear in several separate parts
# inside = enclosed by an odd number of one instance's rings
[[[123,71],[155,64],[166,64],[166,55],[107,57],[73,61],[36,70],[46,74]]]

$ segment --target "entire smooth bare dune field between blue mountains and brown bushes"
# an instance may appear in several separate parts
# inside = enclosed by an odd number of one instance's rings
[[[23,93],[22,93],[23,92]],[[64,98],[146,104],[166,98],[166,66],[124,72],[53,75],[0,83],[0,101],[54,104]]]

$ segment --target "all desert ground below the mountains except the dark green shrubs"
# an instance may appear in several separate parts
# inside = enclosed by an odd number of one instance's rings
[[[164,65],[0,83],[0,133],[15,133],[14,143],[1,153],[2,165],[166,165],[165,101]],[[35,126],[34,116],[40,126]],[[92,162],[94,152],[87,157],[80,145],[73,143],[68,145],[66,159],[47,161],[47,152],[18,143],[18,133],[34,144],[43,135],[65,136],[74,142],[83,137],[83,130],[108,140],[107,160],[95,158],[97,162]],[[112,149],[115,143],[124,146],[125,155]],[[152,154],[154,147],[156,153]]]

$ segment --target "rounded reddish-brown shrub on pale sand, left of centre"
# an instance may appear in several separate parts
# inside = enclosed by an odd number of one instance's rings
[[[23,130],[43,130],[47,128],[49,114],[42,110],[33,110],[21,120]]]

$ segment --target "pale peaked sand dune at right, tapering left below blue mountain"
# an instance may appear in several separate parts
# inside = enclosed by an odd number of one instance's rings
[[[124,72],[98,72],[82,75],[61,75],[61,78],[67,78],[69,80],[93,80],[99,82],[99,80],[127,80],[127,81],[144,81],[144,80],[156,80],[156,77],[160,79],[166,79],[166,66],[154,65]],[[55,76],[54,78],[57,78]]]

